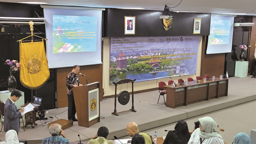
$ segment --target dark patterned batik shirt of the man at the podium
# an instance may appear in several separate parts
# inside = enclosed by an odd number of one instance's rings
[[[74,85],[80,85],[80,81],[78,75],[73,73],[72,71],[67,75],[67,94],[73,94]]]

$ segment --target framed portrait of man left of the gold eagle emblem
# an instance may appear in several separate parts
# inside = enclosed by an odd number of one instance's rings
[[[135,34],[135,16],[125,16],[125,34]]]

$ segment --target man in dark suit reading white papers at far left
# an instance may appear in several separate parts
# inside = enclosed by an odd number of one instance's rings
[[[24,111],[24,107],[21,109],[17,109],[14,102],[16,102],[21,97],[21,92],[18,90],[14,90],[11,93],[10,98],[7,99],[5,103],[5,121],[3,130],[7,132],[8,130],[15,130],[18,134],[19,132],[19,117],[21,113]]]

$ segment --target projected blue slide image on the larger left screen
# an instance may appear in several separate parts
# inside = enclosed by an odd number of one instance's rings
[[[97,51],[97,17],[53,15],[53,53]]]

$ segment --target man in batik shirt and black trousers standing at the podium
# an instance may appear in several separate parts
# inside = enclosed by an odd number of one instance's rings
[[[82,86],[80,84],[77,73],[80,71],[80,67],[78,65],[73,66],[73,70],[67,75],[67,98],[68,98],[68,111],[67,116],[70,121],[77,121],[75,118],[75,100],[73,95],[73,87]]]

